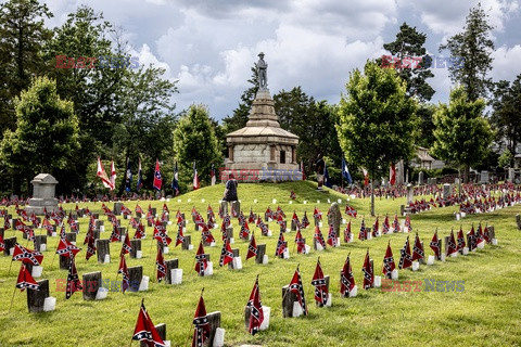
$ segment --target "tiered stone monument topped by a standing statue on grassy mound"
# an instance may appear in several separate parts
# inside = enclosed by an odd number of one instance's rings
[[[298,137],[280,127],[274,100],[268,90],[264,53],[258,53],[259,88],[250,111],[246,126],[226,136],[228,159],[223,180],[233,174],[243,182],[300,181],[302,171],[296,162]]]

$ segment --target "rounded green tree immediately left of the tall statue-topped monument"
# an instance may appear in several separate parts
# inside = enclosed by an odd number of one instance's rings
[[[179,163],[179,179],[191,182],[193,162],[198,167],[199,179],[209,182],[212,164],[218,167],[223,164],[217,137],[203,105],[192,105],[181,116],[174,130],[174,152]]]

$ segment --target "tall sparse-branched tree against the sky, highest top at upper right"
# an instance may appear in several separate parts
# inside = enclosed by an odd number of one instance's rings
[[[448,69],[452,80],[465,87],[470,101],[486,98],[487,90],[492,87],[492,79],[487,74],[492,69],[494,41],[491,38],[493,26],[487,18],[481,3],[478,4],[470,10],[463,31],[440,46],[440,51],[448,50],[453,60],[460,62],[450,64]]]

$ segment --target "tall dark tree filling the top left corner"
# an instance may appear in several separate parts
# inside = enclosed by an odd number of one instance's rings
[[[38,0],[0,4],[0,139],[5,129],[14,130],[14,97],[28,88],[33,76],[45,70],[41,48],[52,31],[43,21],[52,16]]]

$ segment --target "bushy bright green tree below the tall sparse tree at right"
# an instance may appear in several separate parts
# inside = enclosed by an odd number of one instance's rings
[[[440,104],[434,113],[432,154],[465,169],[468,181],[470,167],[487,157],[493,132],[483,117],[483,99],[469,101],[462,87],[450,91],[449,104]]]

